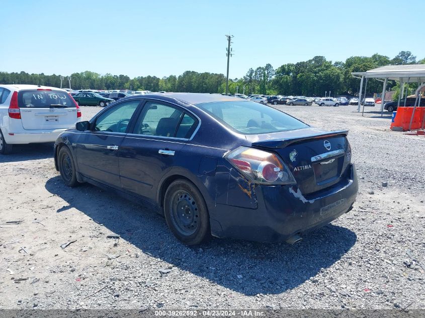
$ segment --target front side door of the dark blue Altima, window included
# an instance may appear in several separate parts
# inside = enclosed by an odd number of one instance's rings
[[[106,109],[91,122],[91,131],[80,134],[76,158],[83,176],[121,188],[119,147],[139,104],[140,99],[132,99]]]

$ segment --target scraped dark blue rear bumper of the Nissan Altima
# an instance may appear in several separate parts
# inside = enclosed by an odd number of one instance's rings
[[[303,195],[297,186],[256,186],[258,207],[216,204],[212,234],[260,242],[283,242],[295,234],[322,227],[352,209],[359,185],[355,166],[350,179],[323,191]]]

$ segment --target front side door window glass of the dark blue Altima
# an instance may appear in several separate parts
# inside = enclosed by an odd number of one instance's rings
[[[139,100],[120,103],[96,119],[95,131],[125,133]]]

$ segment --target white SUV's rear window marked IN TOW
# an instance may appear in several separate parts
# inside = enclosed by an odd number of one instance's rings
[[[75,107],[67,92],[60,90],[21,90],[18,93],[20,108]]]

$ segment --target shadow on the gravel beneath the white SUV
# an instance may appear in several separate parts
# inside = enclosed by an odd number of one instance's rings
[[[54,143],[13,145],[12,153],[0,155],[0,162],[18,162],[53,158]]]

